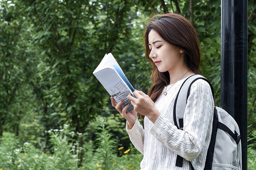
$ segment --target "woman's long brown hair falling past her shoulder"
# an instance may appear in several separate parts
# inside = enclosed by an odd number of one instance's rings
[[[192,24],[183,16],[177,14],[155,15],[150,19],[144,30],[144,42],[146,46],[146,57],[152,63],[152,86],[148,96],[155,102],[161,95],[164,86],[170,83],[168,71],[160,73],[152,59],[149,57],[148,34],[154,29],[165,41],[184,50],[185,62],[191,71],[200,74],[200,46],[196,31]]]

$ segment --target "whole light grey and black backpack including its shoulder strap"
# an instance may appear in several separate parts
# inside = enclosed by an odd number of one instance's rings
[[[183,117],[191,86],[198,79],[209,83],[214,98],[213,87],[209,80],[197,74],[189,76],[181,85],[174,103],[174,124],[180,130],[183,130]],[[214,107],[212,136],[204,169],[242,169],[240,139],[240,130],[234,118],[224,109]],[[191,162],[189,163],[194,169]],[[182,165],[183,158],[177,155],[176,166],[182,167]]]

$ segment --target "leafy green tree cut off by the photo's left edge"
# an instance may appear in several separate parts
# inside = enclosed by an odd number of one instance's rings
[[[0,134],[9,130],[19,134],[19,124],[34,107],[26,83],[32,76],[34,59],[28,53],[27,36],[22,18],[9,1],[1,2],[0,12]]]

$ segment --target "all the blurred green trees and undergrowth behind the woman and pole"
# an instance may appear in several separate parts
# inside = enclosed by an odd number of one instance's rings
[[[142,155],[92,72],[111,52],[147,92],[143,28],[153,14],[193,24],[200,71],[220,105],[221,1],[191,2],[0,1],[0,169],[139,169]],[[248,169],[256,167],[255,8],[248,0]]]

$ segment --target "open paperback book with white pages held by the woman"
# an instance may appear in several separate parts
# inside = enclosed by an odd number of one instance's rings
[[[110,96],[114,97],[115,102],[123,100],[121,109],[131,103],[127,96],[129,93],[134,96],[134,88],[126,78],[121,67],[118,65],[112,53],[105,54],[104,58],[93,71],[93,74],[100,81],[102,86],[109,92]],[[127,109],[126,113],[133,110],[133,105]]]

